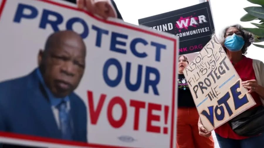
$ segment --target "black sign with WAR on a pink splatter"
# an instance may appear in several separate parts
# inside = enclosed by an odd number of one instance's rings
[[[180,55],[202,50],[214,32],[209,2],[141,18],[138,24],[179,37]]]

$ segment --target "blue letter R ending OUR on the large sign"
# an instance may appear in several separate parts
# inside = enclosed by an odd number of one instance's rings
[[[150,74],[155,75],[155,80],[150,80]],[[159,95],[157,85],[160,82],[160,73],[156,68],[153,67],[146,67],[146,75],[145,75],[145,87],[144,92],[148,93],[149,86],[152,86],[153,92],[155,95]]]

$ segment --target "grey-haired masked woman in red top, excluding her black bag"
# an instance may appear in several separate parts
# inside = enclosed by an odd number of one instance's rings
[[[245,56],[253,36],[242,28],[238,24],[226,27],[221,33],[219,41],[242,79],[242,85],[249,90],[248,93],[255,100],[256,105],[250,108],[254,109],[262,106],[261,99],[264,99],[264,63]],[[205,137],[210,135],[200,119],[198,126],[200,135]],[[240,136],[232,130],[228,122],[214,131],[221,148],[263,148],[264,134],[253,137]]]

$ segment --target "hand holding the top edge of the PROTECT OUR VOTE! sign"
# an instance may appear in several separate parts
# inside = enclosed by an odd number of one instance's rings
[[[117,18],[116,10],[110,0],[77,0],[77,6],[104,19]]]

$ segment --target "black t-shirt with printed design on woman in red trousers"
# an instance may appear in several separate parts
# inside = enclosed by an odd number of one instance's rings
[[[187,80],[183,74],[179,74],[178,78],[178,106],[195,107]]]

